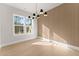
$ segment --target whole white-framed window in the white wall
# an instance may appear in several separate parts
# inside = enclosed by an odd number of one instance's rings
[[[13,16],[14,34],[31,34],[32,33],[32,19],[25,16]]]

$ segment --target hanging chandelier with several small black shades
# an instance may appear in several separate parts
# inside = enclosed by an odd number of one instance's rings
[[[46,11],[44,12],[43,9],[40,9],[40,11],[38,13],[37,9],[38,9],[38,5],[36,3],[36,12],[32,14],[32,17],[28,16],[29,19],[38,19],[38,18],[40,18],[41,15],[47,16],[47,12]]]

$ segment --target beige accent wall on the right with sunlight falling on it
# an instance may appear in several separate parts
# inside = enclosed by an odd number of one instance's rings
[[[65,3],[42,15],[38,36],[79,47],[79,4]]]

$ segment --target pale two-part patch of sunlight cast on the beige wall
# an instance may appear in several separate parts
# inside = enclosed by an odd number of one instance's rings
[[[44,24],[42,24],[42,37],[50,40],[50,29],[47,26],[45,26]],[[53,37],[52,39],[57,41],[57,42],[62,42],[62,43],[67,44],[67,41],[55,32],[53,32],[52,37]]]

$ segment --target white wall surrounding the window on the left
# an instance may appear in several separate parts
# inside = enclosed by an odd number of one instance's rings
[[[1,24],[1,46],[9,45],[19,41],[34,39],[37,37],[37,22],[33,21],[33,33],[31,35],[13,35],[13,14],[28,16],[28,12],[0,4],[0,24]]]

